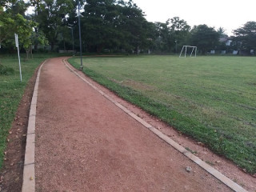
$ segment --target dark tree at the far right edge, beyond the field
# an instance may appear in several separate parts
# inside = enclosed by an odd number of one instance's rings
[[[242,44],[242,50],[250,52],[256,50],[256,22],[246,22],[246,24],[233,31],[234,42]]]

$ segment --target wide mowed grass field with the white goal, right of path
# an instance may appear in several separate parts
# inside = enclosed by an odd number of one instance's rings
[[[79,58],[70,63],[78,68]],[[83,58],[122,98],[256,173],[256,58]]]

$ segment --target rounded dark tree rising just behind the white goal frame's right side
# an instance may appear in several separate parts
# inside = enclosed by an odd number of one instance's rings
[[[219,36],[212,27],[194,26],[190,31],[190,44],[191,46],[198,46],[198,50],[201,50],[202,54],[206,54],[207,51],[213,50],[218,45]]]

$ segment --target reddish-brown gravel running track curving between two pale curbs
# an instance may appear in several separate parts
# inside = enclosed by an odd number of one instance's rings
[[[82,82],[62,59],[48,60],[40,76],[37,192],[230,191]]]

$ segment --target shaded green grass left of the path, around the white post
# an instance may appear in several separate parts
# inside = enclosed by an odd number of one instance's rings
[[[22,55],[22,82],[20,82],[18,57],[0,55],[0,63],[14,69],[14,74],[0,74],[0,168],[2,167],[3,154],[6,149],[6,137],[14,121],[15,113],[27,82],[46,57],[47,55],[34,55],[34,59],[25,62],[25,55]]]

